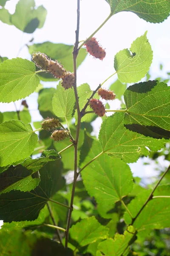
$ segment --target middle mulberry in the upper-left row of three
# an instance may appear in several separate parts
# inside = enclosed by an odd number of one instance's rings
[[[58,61],[49,60],[48,71],[55,76],[55,78],[63,78],[65,76],[66,70],[63,68]]]

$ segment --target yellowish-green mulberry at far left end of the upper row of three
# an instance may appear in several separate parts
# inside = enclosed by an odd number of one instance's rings
[[[37,67],[40,67],[42,70],[48,70],[49,59],[47,55],[41,52],[34,52],[32,55],[32,61],[36,64]]]

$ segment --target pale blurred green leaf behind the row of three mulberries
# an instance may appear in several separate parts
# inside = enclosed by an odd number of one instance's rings
[[[44,42],[42,44],[33,44],[28,46],[29,53],[44,52],[49,58],[61,62],[66,70],[73,72],[73,48],[74,45],[54,44],[52,42]],[[86,49],[80,49],[77,57],[77,67],[84,61],[87,55]],[[56,81],[54,76],[46,73],[39,73],[42,81]]]

